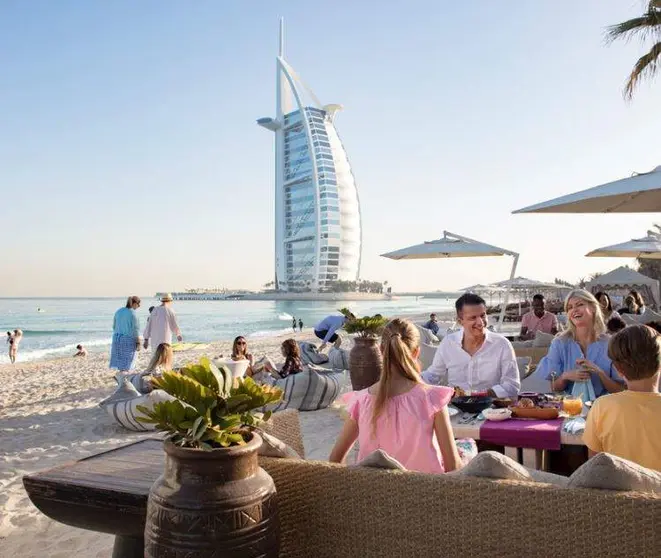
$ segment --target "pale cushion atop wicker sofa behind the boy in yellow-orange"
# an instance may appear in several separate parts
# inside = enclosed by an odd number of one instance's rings
[[[661,493],[661,473],[610,453],[598,453],[574,471],[568,487]]]

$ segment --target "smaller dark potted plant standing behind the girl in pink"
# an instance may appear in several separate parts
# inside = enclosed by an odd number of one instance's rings
[[[357,334],[349,353],[349,376],[354,390],[368,388],[381,377],[383,356],[379,347],[379,338],[387,323],[387,318],[376,314],[350,318],[344,324],[347,333]]]

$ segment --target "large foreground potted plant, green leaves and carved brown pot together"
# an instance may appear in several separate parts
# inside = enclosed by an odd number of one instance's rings
[[[175,399],[138,407],[166,432],[165,470],[149,493],[145,557],[276,557],[273,479],[259,467],[253,431],[282,390],[232,378],[203,358],[152,380]]]

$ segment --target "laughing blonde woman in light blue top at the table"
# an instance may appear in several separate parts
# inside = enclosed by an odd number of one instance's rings
[[[608,357],[608,335],[601,305],[577,289],[565,299],[567,329],[551,343],[544,366],[554,391],[572,393],[576,382],[590,381],[596,397],[624,389]]]

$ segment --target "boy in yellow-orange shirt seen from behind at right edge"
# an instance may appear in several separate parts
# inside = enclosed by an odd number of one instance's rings
[[[626,327],[612,337],[608,356],[628,390],[594,402],[583,434],[588,453],[607,452],[661,471],[661,336],[645,325]]]

